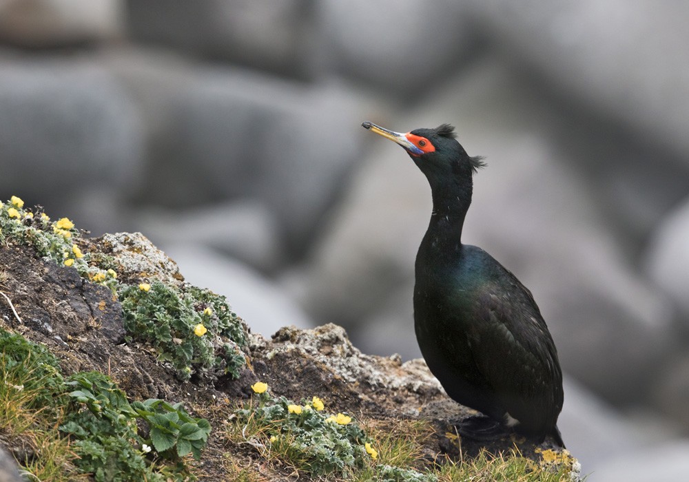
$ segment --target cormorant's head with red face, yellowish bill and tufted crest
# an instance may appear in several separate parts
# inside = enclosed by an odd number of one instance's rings
[[[455,128],[449,124],[406,133],[393,132],[370,122],[362,123],[362,127],[404,147],[433,189],[452,181],[470,181],[472,174],[485,165],[480,156],[466,154],[455,138]]]

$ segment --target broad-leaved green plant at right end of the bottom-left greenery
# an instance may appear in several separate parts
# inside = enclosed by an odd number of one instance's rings
[[[191,453],[194,459],[200,459],[211,432],[207,420],[189,416],[182,404],[170,405],[159,399],[135,401],[132,408],[149,424],[151,441],[158,453],[165,454],[176,446],[178,457]]]

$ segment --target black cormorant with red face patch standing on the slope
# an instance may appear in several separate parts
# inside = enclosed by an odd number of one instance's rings
[[[431,186],[433,211],[415,261],[414,328],[447,395],[484,415],[460,424],[460,434],[514,431],[564,448],[562,369],[533,295],[489,253],[462,244],[483,158],[466,154],[449,124],[406,133],[362,127],[402,146]]]

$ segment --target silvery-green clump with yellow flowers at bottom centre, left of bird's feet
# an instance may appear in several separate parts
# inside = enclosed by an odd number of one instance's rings
[[[285,397],[264,393],[258,399],[258,406],[236,411],[237,423],[250,428],[256,443],[267,444],[296,468],[316,475],[345,474],[370,459],[364,443],[371,440],[357,423],[339,424],[305,406],[299,406],[300,413],[290,412],[294,404]]]

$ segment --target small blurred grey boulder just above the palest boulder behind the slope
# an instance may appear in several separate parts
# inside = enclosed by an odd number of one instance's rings
[[[239,201],[184,210],[159,207],[136,212],[135,228],[160,246],[208,247],[264,272],[285,262],[277,222],[258,202]]]

